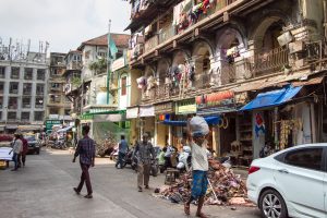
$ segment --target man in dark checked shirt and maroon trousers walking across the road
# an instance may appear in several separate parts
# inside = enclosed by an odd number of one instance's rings
[[[84,197],[93,198],[93,190],[92,190],[88,169],[89,167],[94,167],[95,143],[92,138],[88,137],[88,133],[89,133],[89,126],[84,125],[82,128],[83,138],[78,141],[77,148],[73,158],[73,162],[75,162],[76,157],[80,156],[80,165],[82,169],[80,184],[77,187],[74,187],[74,191],[76,194],[81,194],[81,191],[85,182],[87,189],[87,195],[85,195]]]

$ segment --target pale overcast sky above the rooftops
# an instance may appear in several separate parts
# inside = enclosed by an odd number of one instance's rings
[[[82,41],[108,33],[125,33],[129,1],[122,0],[1,0],[0,37],[3,41],[49,41],[51,52],[68,52]]]

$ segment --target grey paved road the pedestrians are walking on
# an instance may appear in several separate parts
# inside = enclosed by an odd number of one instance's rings
[[[68,152],[43,150],[40,155],[27,156],[24,169],[0,170],[0,217],[185,217],[181,205],[152,196],[154,189],[138,193],[136,174],[131,169],[117,170],[109,159],[97,159],[90,170],[94,198],[75,195],[72,187],[81,171],[71,157]],[[156,178],[150,186],[160,184],[162,179]],[[85,194],[85,190],[82,192]],[[191,210],[194,214],[195,207]],[[256,208],[209,206],[205,211],[217,218],[259,217]]]

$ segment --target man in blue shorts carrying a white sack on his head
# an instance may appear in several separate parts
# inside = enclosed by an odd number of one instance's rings
[[[184,211],[190,215],[190,205],[193,201],[198,201],[196,217],[206,218],[207,216],[202,213],[204,205],[205,194],[208,185],[208,158],[207,158],[207,140],[209,133],[207,122],[202,117],[194,117],[189,122],[189,130],[191,131],[192,142],[192,192],[191,197],[184,205]]]

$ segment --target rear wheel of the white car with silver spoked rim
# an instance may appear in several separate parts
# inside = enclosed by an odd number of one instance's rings
[[[265,191],[259,197],[259,208],[265,218],[287,218],[288,209],[282,196],[275,190]]]

